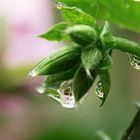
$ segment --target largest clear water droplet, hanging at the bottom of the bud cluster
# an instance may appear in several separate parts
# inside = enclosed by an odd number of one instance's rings
[[[72,85],[69,82],[62,83],[60,89],[60,103],[65,108],[75,107],[75,98],[72,92]]]

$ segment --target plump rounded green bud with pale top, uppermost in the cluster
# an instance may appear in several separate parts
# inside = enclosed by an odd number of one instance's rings
[[[70,35],[74,42],[84,47],[95,42],[97,38],[97,33],[94,28],[88,25],[70,26],[66,29],[66,33]]]

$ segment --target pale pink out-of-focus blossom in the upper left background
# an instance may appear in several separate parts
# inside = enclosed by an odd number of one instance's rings
[[[37,36],[54,23],[51,0],[0,0],[0,17],[6,22],[7,45],[4,62],[16,67],[46,57],[56,44]]]

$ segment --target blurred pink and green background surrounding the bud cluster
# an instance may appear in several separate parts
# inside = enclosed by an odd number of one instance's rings
[[[138,0],[60,1],[82,8],[100,24],[109,20],[113,34],[140,43]],[[119,140],[140,100],[140,71],[130,66],[127,54],[113,52],[112,86],[103,107],[94,86],[84,104],[64,109],[36,93],[42,78],[27,77],[36,63],[62,46],[38,38],[62,20],[56,3],[0,0],[0,140]]]

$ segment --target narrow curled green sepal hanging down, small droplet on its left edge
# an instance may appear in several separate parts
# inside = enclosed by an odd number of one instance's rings
[[[109,94],[111,80],[110,80],[110,75],[109,75],[108,70],[98,71],[98,74],[100,76],[100,81],[101,81],[102,90],[103,90],[103,98],[100,98],[102,100],[102,103],[100,106],[102,106],[105,103],[105,100]]]

